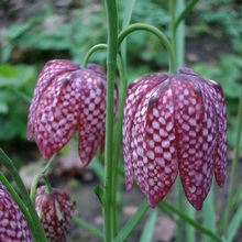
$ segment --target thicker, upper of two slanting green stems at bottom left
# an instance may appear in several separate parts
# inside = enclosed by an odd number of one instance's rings
[[[12,161],[7,156],[7,154],[0,148],[0,162],[2,165],[8,169],[9,174],[12,176],[13,180],[15,182],[22,197],[24,200],[25,206],[28,207],[31,216],[33,223],[35,226],[36,232],[37,232],[37,241],[44,242],[46,241],[44,229],[42,227],[42,223],[38,219],[37,212],[34,208],[34,205],[32,204],[32,200],[30,198],[30,195],[23,184],[23,180],[21,179],[15,166],[13,165]]]

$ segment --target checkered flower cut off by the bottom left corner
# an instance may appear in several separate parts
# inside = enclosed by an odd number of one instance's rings
[[[31,242],[26,220],[6,187],[0,183],[0,241]]]

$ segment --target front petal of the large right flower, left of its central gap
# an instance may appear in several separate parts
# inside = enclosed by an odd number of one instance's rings
[[[147,197],[155,207],[168,193],[178,174],[174,103],[166,81],[152,91],[144,122],[144,158],[147,163]]]

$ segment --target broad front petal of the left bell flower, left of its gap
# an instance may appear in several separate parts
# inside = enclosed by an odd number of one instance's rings
[[[44,158],[59,151],[75,132],[80,101],[79,86],[75,78],[80,72],[57,76],[38,101],[34,129]]]

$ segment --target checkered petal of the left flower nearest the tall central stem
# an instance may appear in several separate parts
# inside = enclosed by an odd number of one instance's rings
[[[106,78],[84,69],[79,81],[79,156],[87,165],[103,142],[106,121]]]

